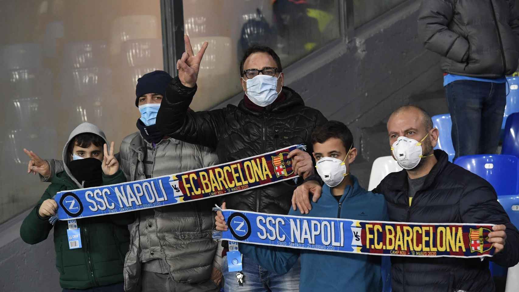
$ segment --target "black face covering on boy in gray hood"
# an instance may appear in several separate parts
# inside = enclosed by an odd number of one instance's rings
[[[99,159],[84,158],[72,160],[68,166],[71,174],[84,188],[103,185],[103,170]]]

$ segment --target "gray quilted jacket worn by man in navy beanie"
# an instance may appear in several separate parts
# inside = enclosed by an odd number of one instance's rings
[[[139,132],[124,138],[119,164],[128,181],[145,179],[146,142]],[[153,177],[196,170],[216,165],[210,148],[173,138],[156,145]],[[62,168],[61,161],[48,160],[52,175]],[[125,290],[140,291],[142,262],[165,259],[173,280],[201,283],[211,276],[217,242],[211,237],[214,224],[211,199],[193,203],[157,207],[138,212],[130,226],[130,250],[125,258]],[[196,289],[195,289],[196,290]]]

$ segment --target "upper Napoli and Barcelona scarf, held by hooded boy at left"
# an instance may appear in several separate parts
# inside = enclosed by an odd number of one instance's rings
[[[203,200],[242,190],[296,179],[290,151],[304,145],[268,152],[208,168],[136,180],[135,182],[60,191],[54,197],[57,215],[49,220],[70,220],[131,212]]]

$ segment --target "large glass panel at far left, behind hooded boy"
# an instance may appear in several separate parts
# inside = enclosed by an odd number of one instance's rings
[[[159,0],[4,0],[0,11],[1,223],[48,186],[26,174],[23,148],[61,159],[88,121],[119,149],[136,131],[136,80],[163,65]]]

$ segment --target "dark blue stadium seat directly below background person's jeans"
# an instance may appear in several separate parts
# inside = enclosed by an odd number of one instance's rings
[[[455,164],[489,182],[497,196],[517,196],[519,193],[519,158],[512,155],[460,156]]]

